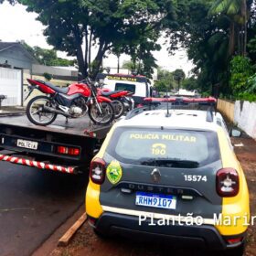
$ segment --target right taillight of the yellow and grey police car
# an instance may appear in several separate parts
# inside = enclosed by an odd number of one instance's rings
[[[238,172],[233,168],[223,168],[217,173],[216,188],[219,197],[235,197],[240,190]]]

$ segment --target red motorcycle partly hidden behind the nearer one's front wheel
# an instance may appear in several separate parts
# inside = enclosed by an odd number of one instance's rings
[[[131,91],[111,91],[106,88],[98,88],[98,95],[112,100],[115,118],[121,117],[125,111],[131,111],[134,107],[134,101],[131,97],[133,92]]]

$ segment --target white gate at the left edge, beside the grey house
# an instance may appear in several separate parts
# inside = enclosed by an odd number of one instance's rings
[[[22,70],[0,68],[0,95],[7,96],[2,106],[20,106]]]

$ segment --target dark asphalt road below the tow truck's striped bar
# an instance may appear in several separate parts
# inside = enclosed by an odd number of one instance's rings
[[[30,255],[83,203],[87,176],[0,162],[0,255]]]

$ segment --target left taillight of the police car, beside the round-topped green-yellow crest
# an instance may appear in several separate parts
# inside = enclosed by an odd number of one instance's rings
[[[91,162],[90,177],[93,183],[101,185],[106,174],[106,163],[101,158],[95,158]]]

